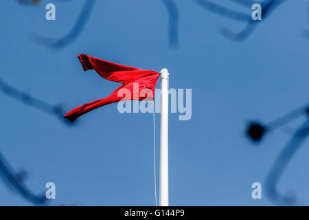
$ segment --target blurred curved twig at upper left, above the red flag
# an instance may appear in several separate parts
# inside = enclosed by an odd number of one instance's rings
[[[39,45],[45,45],[46,47],[50,47],[54,50],[61,50],[67,47],[67,45],[73,43],[76,39],[78,39],[78,37],[82,33],[82,30],[84,30],[84,26],[86,25],[91,15],[91,12],[93,11],[95,1],[96,0],[84,1],[84,7],[82,8],[82,12],[80,12],[80,15],[76,19],[76,23],[73,25],[71,31],[62,38],[52,39],[49,37],[33,34],[32,40]]]

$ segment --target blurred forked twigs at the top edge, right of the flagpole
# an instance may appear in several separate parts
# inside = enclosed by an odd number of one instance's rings
[[[221,28],[220,33],[223,36],[228,37],[229,39],[233,41],[244,41],[246,40],[250,34],[255,30],[258,23],[261,21],[253,21],[251,18],[251,14],[245,14],[242,12],[237,12],[235,10],[230,10],[228,8],[225,8],[221,5],[218,5],[212,1],[207,0],[193,0],[197,5],[201,6],[205,10],[208,10],[210,12],[214,12],[216,14],[220,14],[222,17],[227,17],[229,19],[233,19],[235,21],[242,21],[246,22],[247,26],[240,32],[234,33],[229,28]],[[238,3],[240,5],[244,5],[245,7],[250,7],[253,5],[253,1],[247,1],[247,0],[231,0],[234,3]],[[275,10],[279,5],[284,3],[286,0],[264,0],[260,4],[262,6],[262,21],[266,19],[273,10]]]

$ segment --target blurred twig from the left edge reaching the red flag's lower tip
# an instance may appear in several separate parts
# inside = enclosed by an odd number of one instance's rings
[[[56,116],[56,118],[58,118],[59,120],[61,120],[61,122],[64,122],[65,124],[72,125],[72,123],[69,123],[67,120],[63,119],[63,115],[65,115],[66,112],[59,105],[49,104],[43,100],[39,100],[38,98],[33,98],[32,96],[30,96],[30,94],[27,94],[23,91],[19,91],[19,89],[15,89],[8,83],[5,83],[1,78],[0,78],[0,92],[2,94],[5,94],[5,96],[10,96],[15,100],[23,102],[23,104],[27,104],[31,107],[34,107],[36,109],[54,115]]]

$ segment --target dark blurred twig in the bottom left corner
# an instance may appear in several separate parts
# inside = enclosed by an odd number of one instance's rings
[[[24,199],[36,206],[43,206],[47,199],[45,193],[35,195],[24,183],[26,172],[15,173],[8,161],[0,153],[0,177],[13,192],[19,193]]]

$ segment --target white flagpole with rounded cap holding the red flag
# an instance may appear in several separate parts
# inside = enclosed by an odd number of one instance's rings
[[[160,206],[168,206],[168,69],[161,70]]]

